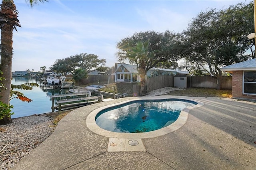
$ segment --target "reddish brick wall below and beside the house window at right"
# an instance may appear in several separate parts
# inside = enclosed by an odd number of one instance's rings
[[[243,94],[243,71],[233,71],[232,97],[240,99],[256,99],[256,95]]]

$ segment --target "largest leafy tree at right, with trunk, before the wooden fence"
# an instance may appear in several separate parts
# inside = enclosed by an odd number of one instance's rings
[[[218,79],[221,88],[220,67],[245,61],[251,57],[247,34],[254,32],[253,3],[240,3],[227,10],[210,9],[200,12],[183,32],[183,56],[197,63]]]

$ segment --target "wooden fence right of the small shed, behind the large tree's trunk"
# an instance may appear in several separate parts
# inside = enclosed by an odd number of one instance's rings
[[[232,89],[232,77],[222,77],[222,89]],[[216,88],[217,79],[210,76],[191,76],[190,87]]]

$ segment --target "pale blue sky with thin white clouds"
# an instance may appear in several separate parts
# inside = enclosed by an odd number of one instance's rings
[[[12,71],[48,70],[57,59],[80,53],[98,55],[112,67],[123,38],[145,31],[179,33],[200,12],[240,2],[250,1],[49,0],[31,8],[26,0],[14,0],[22,27],[13,31]]]

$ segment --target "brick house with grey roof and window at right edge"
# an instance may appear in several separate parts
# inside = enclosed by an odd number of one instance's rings
[[[234,99],[256,100],[256,59],[220,68],[232,73],[232,97]]]

